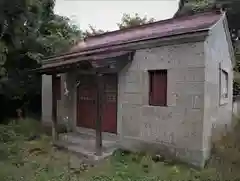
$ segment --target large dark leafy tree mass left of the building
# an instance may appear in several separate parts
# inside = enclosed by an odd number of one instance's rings
[[[66,51],[81,37],[70,20],[53,12],[54,0],[0,2],[0,94],[28,103],[41,92],[29,69],[42,57]]]

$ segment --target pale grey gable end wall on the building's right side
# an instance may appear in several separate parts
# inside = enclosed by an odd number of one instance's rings
[[[204,44],[206,67],[203,145],[208,152],[212,142],[220,139],[232,123],[233,65],[229,52],[231,39],[226,36],[228,27],[224,24],[225,21],[223,16],[212,28]],[[228,73],[228,98],[224,104],[220,99],[220,68]]]

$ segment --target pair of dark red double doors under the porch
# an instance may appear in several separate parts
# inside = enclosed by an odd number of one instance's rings
[[[117,75],[103,76],[103,94],[101,95],[102,131],[117,132]],[[77,126],[96,128],[97,86],[93,76],[80,80],[77,101]]]

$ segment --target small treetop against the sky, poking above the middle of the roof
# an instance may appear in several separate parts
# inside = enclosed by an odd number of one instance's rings
[[[146,16],[140,17],[139,14],[134,14],[131,16],[130,14],[123,14],[121,23],[118,23],[119,29],[134,27],[138,25],[143,25],[147,23],[152,23],[155,20],[153,18],[148,19]]]

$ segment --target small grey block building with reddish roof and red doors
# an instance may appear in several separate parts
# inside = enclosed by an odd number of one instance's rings
[[[55,110],[80,140],[94,136],[101,119],[103,147],[115,136],[117,147],[203,166],[212,142],[231,128],[233,63],[221,12],[90,37],[38,69],[42,122]]]

